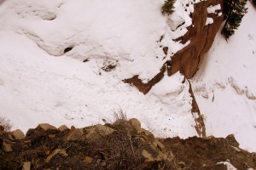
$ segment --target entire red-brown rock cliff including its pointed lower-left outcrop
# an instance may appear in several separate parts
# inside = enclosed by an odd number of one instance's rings
[[[175,40],[182,44],[189,42],[189,45],[177,51],[172,59],[162,66],[160,72],[147,83],[142,82],[138,76],[125,79],[124,82],[136,86],[143,94],[147,94],[154,84],[160,82],[164,77],[166,70],[169,77],[177,71],[181,71],[187,78],[193,77],[223,23],[223,3],[223,0],[207,0],[195,3],[194,13],[190,14],[192,25],[187,28],[188,31],[183,37],[178,37]],[[163,50],[168,55],[168,48],[164,47]]]

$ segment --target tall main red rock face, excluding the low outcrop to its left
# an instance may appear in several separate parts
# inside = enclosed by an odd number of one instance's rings
[[[167,68],[168,76],[172,76],[177,71],[183,72],[187,78],[195,75],[204,54],[211,48],[216,33],[224,20],[223,16],[207,13],[209,6],[217,4],[221,4],[223,7],[223,0],[208,0],[195,4],[195,11],[191,14],[194,27],[189,26],[189,31],[179,38],[182,43],[189,40],[190,43],[172,56],[170,66]],[[213,24],[205,26],[207,17],[213,19]]]

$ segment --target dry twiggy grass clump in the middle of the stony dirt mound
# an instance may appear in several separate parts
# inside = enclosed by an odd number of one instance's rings
[[[126,117],[124,112],[116,115],[118,120]],[[116,112],[116,114],[118,114]],[[143,140],[136,138],[136,130],[129,122],[122,122],[115,126],[112,134],[105,136],[99,135],[90,139],[95,155],[102,155],[102,160],[106,162],[104,169],[111,170],[130,170],[141,169],[145,161],[142,156]],[[97,153],[98,152],[98,153]],[[101,164],[96,164],[92,169],[101,169]]]

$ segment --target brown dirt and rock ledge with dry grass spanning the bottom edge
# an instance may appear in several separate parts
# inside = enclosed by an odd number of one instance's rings
[[[0,128],[0,169],[238,169],[256,167],[236,139],[156,139],[137,119],[70,129],[39,124],[26,136]],[[254,157],[253,157],[254,156]]]

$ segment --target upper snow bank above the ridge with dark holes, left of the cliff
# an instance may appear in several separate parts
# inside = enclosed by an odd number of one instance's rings
[[[174,42],[172,37],[185,34],[186,26],[191,24],[189,15],[182,16],[187,23],[183,31],[171,31],[160,12],[163,3],[164,0],[9,0],[3,3],[1,18],[5,28],[26,34],[50,55],[62,56],[65,48],[73,47],[67,56],[117,60],[122,68],[118,74],[121,79],[139,75],[148,82],[168,59],[162,47],[174,54],[188,45]],[[130,69],[131,66],[137,69]]]

